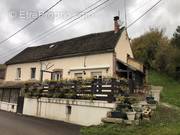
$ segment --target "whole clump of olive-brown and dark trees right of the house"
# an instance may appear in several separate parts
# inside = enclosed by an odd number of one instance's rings
[[[180,26],[169,40],[163,30],[150,29],[142,36],[132,40],[132,49],[136,59],[147,68],[176,76],[180,67]]]

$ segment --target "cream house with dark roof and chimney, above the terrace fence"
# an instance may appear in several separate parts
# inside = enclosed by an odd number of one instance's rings
[[[41,46],[28,47],[6,62],[6,81],[103,77],[140,78],[143,64],[134,60],[125,27]]]

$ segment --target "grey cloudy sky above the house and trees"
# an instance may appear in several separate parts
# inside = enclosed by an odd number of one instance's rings
[[[1,0],[0,41],[6,39],[27,23],[31,22],[57,1],[58,0]],[[113,30],[113,17],[117,15],[120,16],[122,26],[125,25],[125,22],[129,25],[159,0],[109,0],[96,8],[96,10],[93,10],[93,8],[106,1],[99,0],[96,5],[88,8],[97,1],[98,0],[62,0],[55,8],[32,25],[3,44],[0,44],[0,63],[4,63],[30,46],[61,41],[90,33]],[[126,4],[124,1],[126,1]],[[125,9],[127,11],[127,21],[125,21]],[[83,10],[85,11],[80,13]],[[86,15],[73,23],[69,22],[74,18],[65,21],[72,16],[78,17],[76,16],[77,14],[81,16],[85,13]],[[165,34],[171,37],[178,25],[180,25],[180,1],[162,0],[151,12],[147,13],[138,22],[129,27],[128,33],[132,39],[147,32],[150,27],[158,27],[164,29]],[[43,37],[39,37],[42,33],[53,28],[56,28],[54,32],[49,32]]]

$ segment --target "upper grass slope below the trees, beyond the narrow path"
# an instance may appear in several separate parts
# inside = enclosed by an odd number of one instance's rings
[[[160,74],[156,71],[150,71],[148,76],[149,84],[161,85],[164,87],[161,93],[161,101],[180,107],[180,82],[173,78]]]

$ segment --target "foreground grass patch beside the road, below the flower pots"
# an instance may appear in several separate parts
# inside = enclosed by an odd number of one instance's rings
[[[159,106],[151,121],[139,126],[104,124],[84,127],[81,135],[180,135],[180,111]]]

